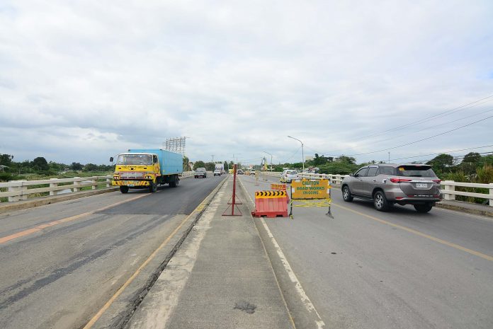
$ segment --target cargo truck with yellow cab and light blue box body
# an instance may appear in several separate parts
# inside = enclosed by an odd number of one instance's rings
[[[113,162],[113,157],[110,158]],[[129,149],[118,154],[111,185],[120,192],[130,188],[148,188],[156,192],[158,185],[178,186],[183,173],[183,156],[163,149]]]

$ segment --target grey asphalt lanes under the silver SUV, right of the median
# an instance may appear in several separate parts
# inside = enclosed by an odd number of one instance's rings
[[[240,179],[252,199],[278,183]],[[332,199],[334,219],[327,208],[264,219],[326,328],[493,328],[492,219],[377,212],[336,188]]]

